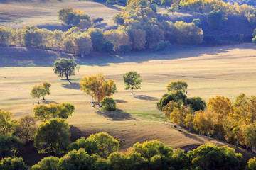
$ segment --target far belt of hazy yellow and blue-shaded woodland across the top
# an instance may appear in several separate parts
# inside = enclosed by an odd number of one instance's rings
[[[166,50],[171,44],[200,45],[203,42],[201,21],[195,18],[186,23],[177,18],[175,23],[159,20],[157,6],[165,6],[168,13],[178,10],[206,13],[208,26],[220,29],[228,15],[247,17],[255,28],[256,11],[247,4],[230,4],[218,0],[182,0],[182,1],[127,1],[122,12],[113,17],[117,29],[102,30],[95,28],[102,18],[92,20],[80,10],[63,8],[58,11],[58,18],[70,30],[50,31],[36,26],[25,26],[18,30],[0,27],[0,45],[4,47],[36,47],[45,50],[57,50],[85,57],[90,52],[129,52],[131,50]],[[163,16],[167,14],[162,14]],[[256,30],[255,30],[256,31]],[[255,33],[251,33],[255,42]],[[242,42],[243,35],[234,39]]]

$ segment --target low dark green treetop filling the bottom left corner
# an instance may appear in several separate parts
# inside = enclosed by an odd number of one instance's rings
[[[0,161],[0,169],[8,169],[8,170],[28,170],[28,166],[26,166],[25,162],[21,157],[6,157],[1,159]]]

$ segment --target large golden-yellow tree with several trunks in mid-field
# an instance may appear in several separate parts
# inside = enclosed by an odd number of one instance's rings
[[[94,99],[97,100],[97,103],[100,106],[100,101],[102,101],[103,98],[106,96],[112,96],[112,94],[117,92],[114,80],[106,80],[102,73],[83,77],[80,81],[80,86],[80,90],[90,96],[92,106],[95,106]]]

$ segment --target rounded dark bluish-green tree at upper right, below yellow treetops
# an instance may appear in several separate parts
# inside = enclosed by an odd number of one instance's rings
[[[210,28],[218,29],[221,28],[223,21],[223,15],[220,10],[218,11],[211,11],[207,15],[207,23],[209,24]]]

